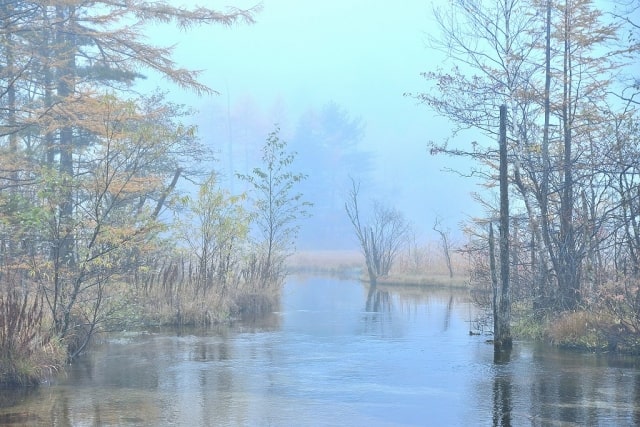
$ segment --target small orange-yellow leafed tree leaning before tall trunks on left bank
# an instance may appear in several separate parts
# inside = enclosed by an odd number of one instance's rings
[[[155,215],[158,195],[171,179],[163,165],[195,143],[194,129],[176,119],[179,110],[157,97],[125,101],[105,95],[93,102],[83,115],[91,144],[75,152],[73,268],[52,262],[37,248],[29,258],[55,332],[68,338],[72,357],[117,308],[110,288],[130,280],[139,253],[164,229]],[[49,173],[39,193],[42,208],[36,212],[49,233],[43,240],[55,245],[64,238],[55,212],[65,193],[58,188],[67,184],[55,171]]]

